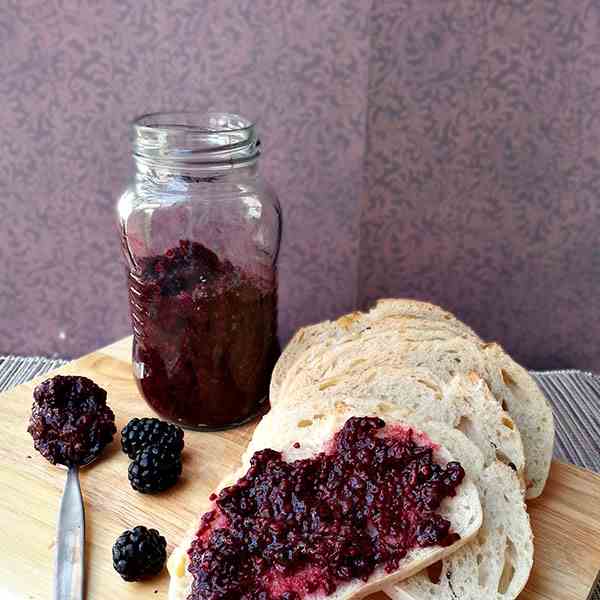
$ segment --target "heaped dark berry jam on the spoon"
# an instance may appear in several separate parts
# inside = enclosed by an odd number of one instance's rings
[[[33,400],[27,431],[53,464],[91,462],[117,431],[106,391],[87,377],[56,375],[35,388]]]

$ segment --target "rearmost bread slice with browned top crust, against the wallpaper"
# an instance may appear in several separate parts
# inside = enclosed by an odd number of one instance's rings
[[[273,370],[271,404],[277,403],[279,388],[288,369],[312,345],[332,345],[342,339],[354,338],[363,332],[392,328],[400,328],[409,337],[411,331],[419,332],[430,328],[437,329],[442,336],[479,339],[471,328],[439,306],[417,300],[382,299],[366,313],[356,311],[335,321],[324,321],[299,329],[285,347]]]

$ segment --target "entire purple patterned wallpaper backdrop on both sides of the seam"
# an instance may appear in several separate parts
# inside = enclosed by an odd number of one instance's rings
[[[257,118],[281,333],[433,300],[530,366],[600,369],[600,2],[4,0],[0,353],[128,333],[128,122]]]

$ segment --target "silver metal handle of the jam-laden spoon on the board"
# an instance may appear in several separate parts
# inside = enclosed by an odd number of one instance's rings
[[[69,467],[60,502],[54,565],[54,600],[83,600],[85,515],[79,468]]]

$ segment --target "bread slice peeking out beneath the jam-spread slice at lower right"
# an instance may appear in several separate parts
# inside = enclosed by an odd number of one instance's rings
[[[435,577],[422,571],[387,586],[392,600],[514,600],[521,593],[533,566],[533,534],[519,482],[495,463],[477,487],[483,525],[475,540],[446,557]]]

